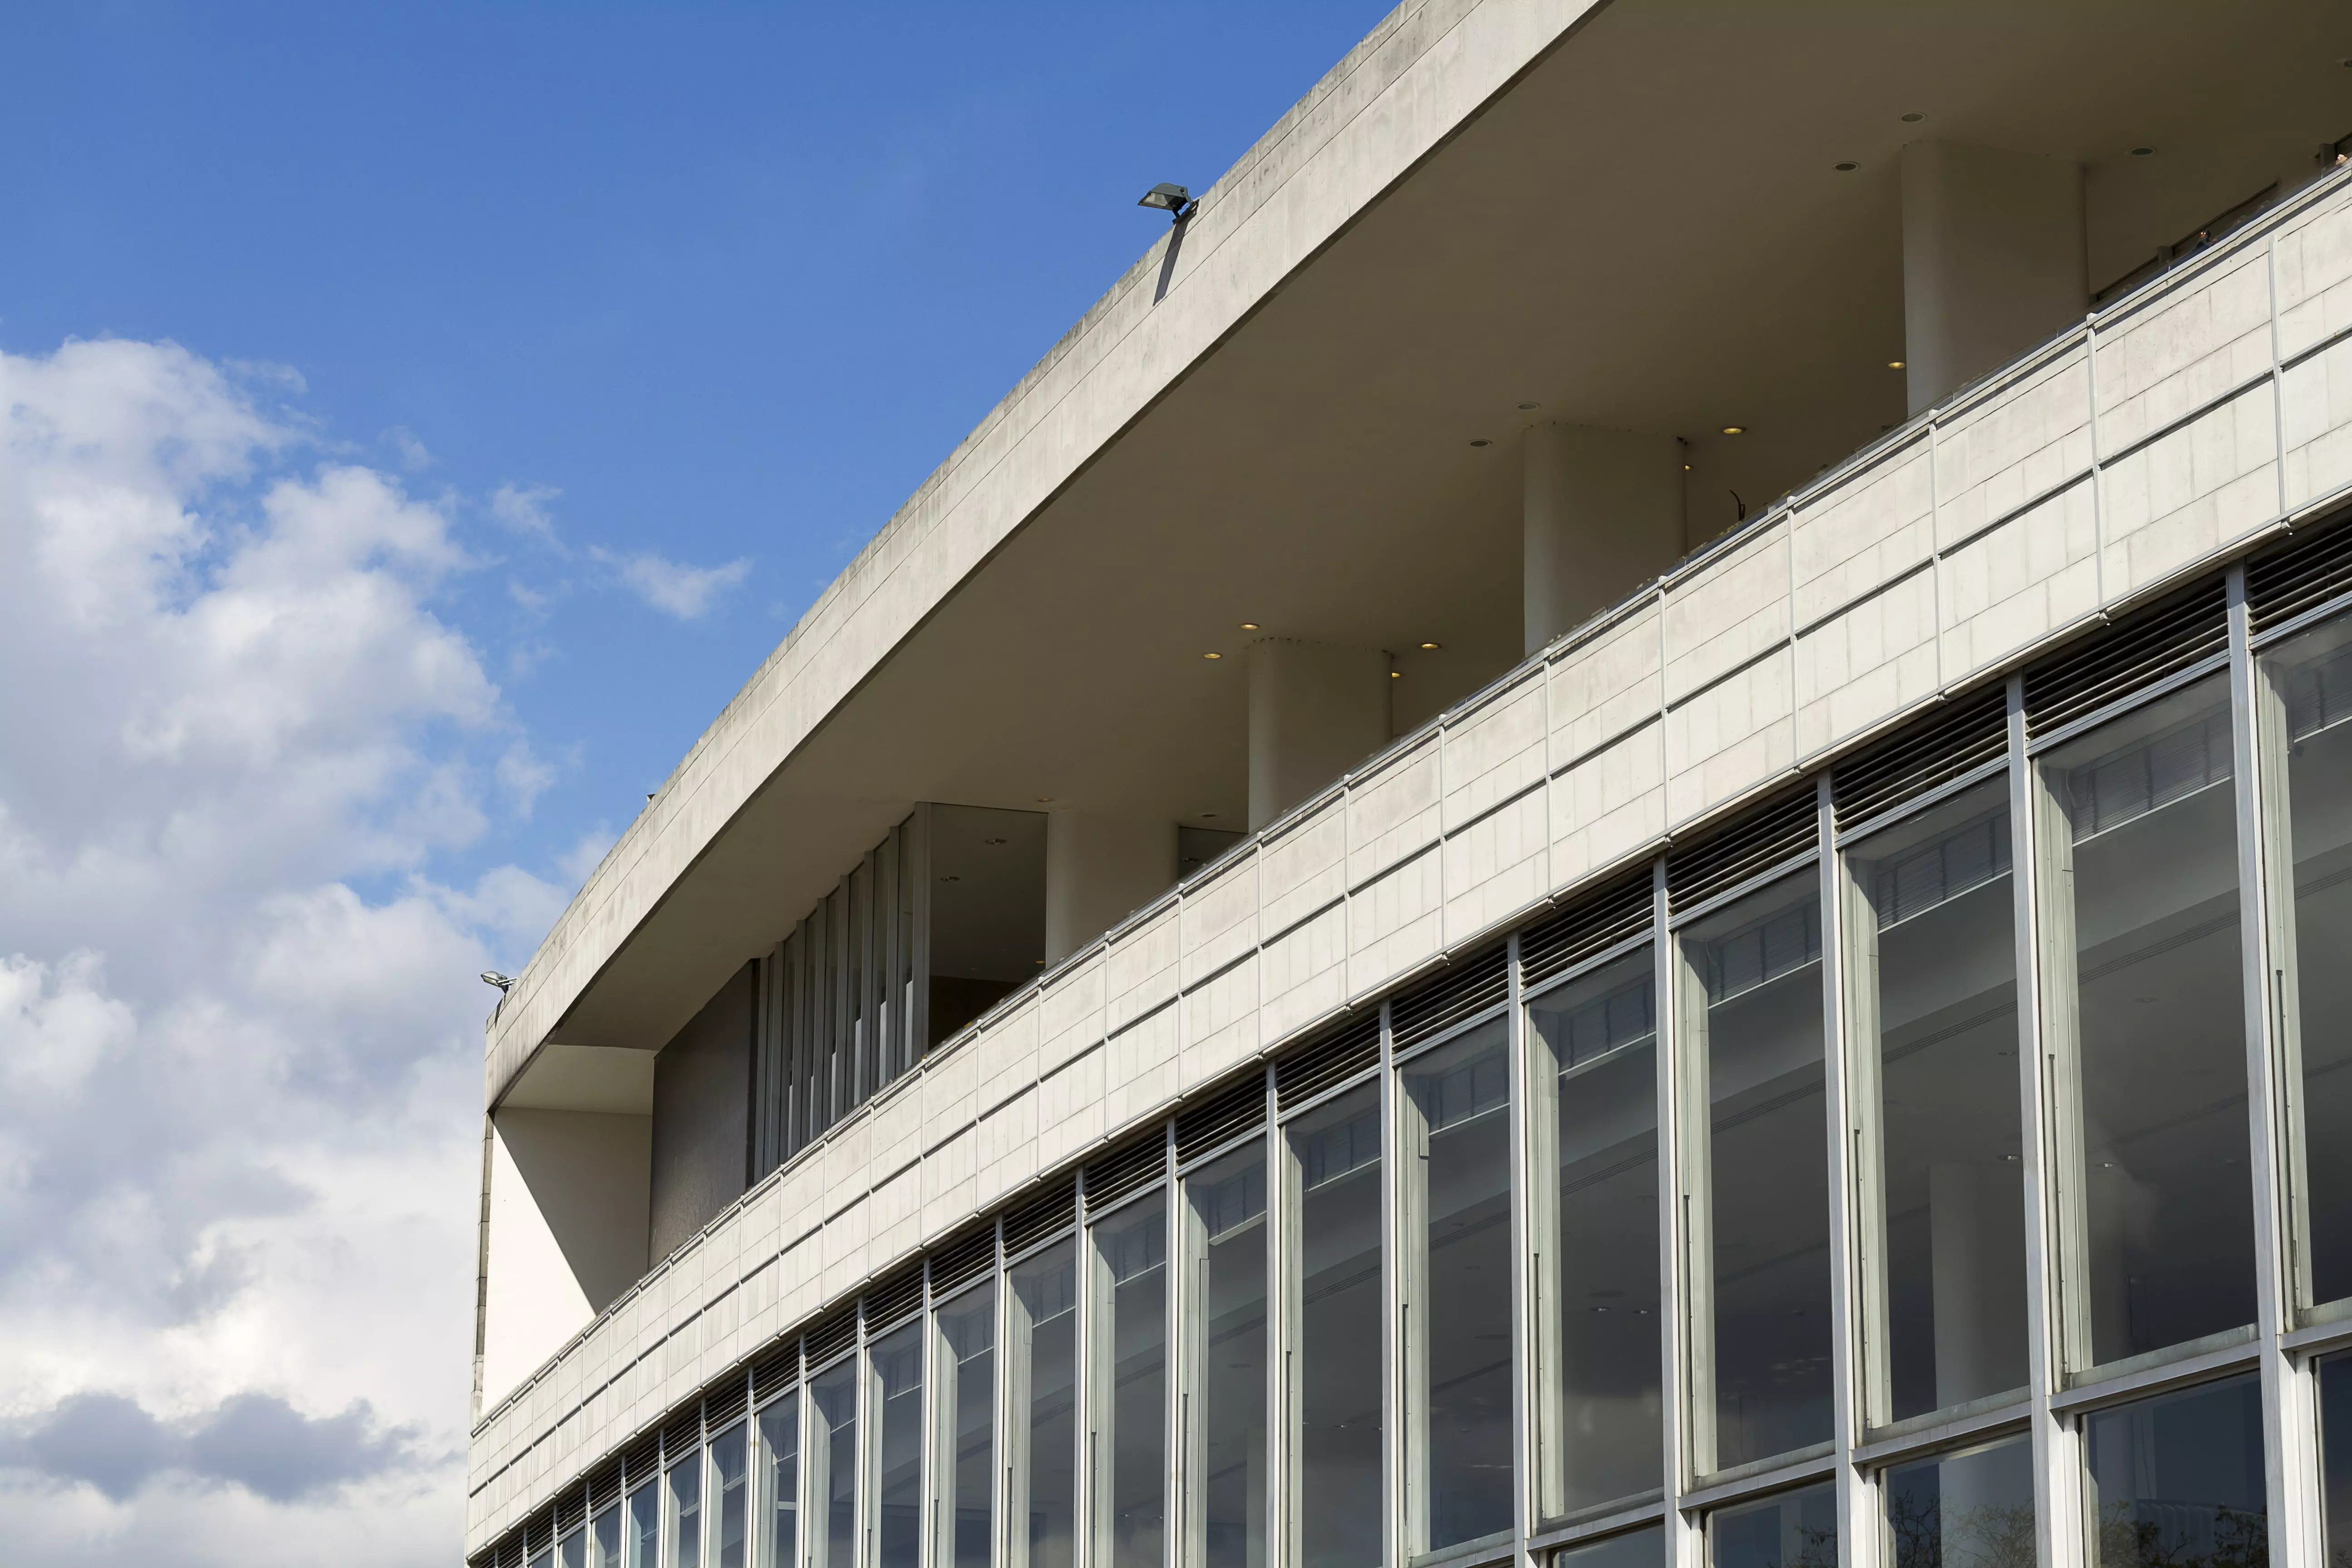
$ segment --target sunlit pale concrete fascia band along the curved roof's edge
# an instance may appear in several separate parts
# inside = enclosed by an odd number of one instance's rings
[[[1604,0],[1406,0],[964,437],[694,743],[487,1023],[496,1105],[736,813],[995,550]],[[1169,277],[1162,287],[1162,266]]]

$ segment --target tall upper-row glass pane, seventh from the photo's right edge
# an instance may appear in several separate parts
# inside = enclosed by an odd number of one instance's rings
[[[1381,1561],[1381,1086],[1287,1131],[1298,1182],[1296,1528],[1305,1568]]]

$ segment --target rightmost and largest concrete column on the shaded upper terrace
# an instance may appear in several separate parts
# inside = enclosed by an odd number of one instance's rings
[[[1903,378],[1917,414],[2079,320],[2082,165],[1957,141],[1903,148]]]

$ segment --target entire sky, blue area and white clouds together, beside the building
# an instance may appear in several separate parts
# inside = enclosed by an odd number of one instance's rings
[[[0,9],[0,1556],[456,1561],[475,973],[1376,21]]]

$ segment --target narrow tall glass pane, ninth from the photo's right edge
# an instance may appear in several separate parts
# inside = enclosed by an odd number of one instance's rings
[[[1105,1469],[1096,1561],[1108,1568],[1160,1568],[1167,1528],[1167,1229],[1164,1192],[1094,1227],[1103,1324],[1094,1453]]]

